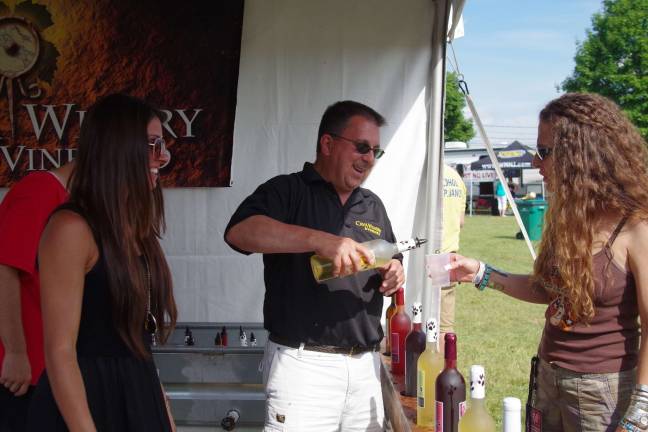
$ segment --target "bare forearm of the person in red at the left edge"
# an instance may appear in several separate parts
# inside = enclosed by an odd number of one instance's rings
[[[0,340],[5,351],[25,353],[18,270],[0,264]]]

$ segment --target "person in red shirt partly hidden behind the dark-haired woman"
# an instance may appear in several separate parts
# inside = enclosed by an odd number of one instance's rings
[[[0,431],[22,431],[45,367],[38,242],[52,210],[67,200],[74,162],[16,183],[0,204]]]

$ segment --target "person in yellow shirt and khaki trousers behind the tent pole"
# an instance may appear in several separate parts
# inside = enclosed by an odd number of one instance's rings
[[[466,185],[457,171],[443,166],[443,238],[441,252],[459,250],[459,233],[466,214]],[[456,283],[441,288],[440,341],[443,334],[454,333]],[[441,342],[443,345],[443,342]]]

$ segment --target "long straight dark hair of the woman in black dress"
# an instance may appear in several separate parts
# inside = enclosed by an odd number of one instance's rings
[[[165,229],[158,185],[151,190],[147,126],[158,112],[142,100],[113,94],[86,113],[70,183],[70,202],[91,226],[106,264],[115,326],[126,345],[148,356],[143,325],[150,270],[151,312],[164,342],[177,310],[159,238]],[[101,258],[100,258],[101,259]]]

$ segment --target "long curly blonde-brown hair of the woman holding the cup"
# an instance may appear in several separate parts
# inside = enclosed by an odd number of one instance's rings
[[[604,213],[648,219],[646,142],[612,101],[567,93],[540,112],[550,126],[552,194],[533,283],[565,295],[570,319],[594,317],[592,241]]]

